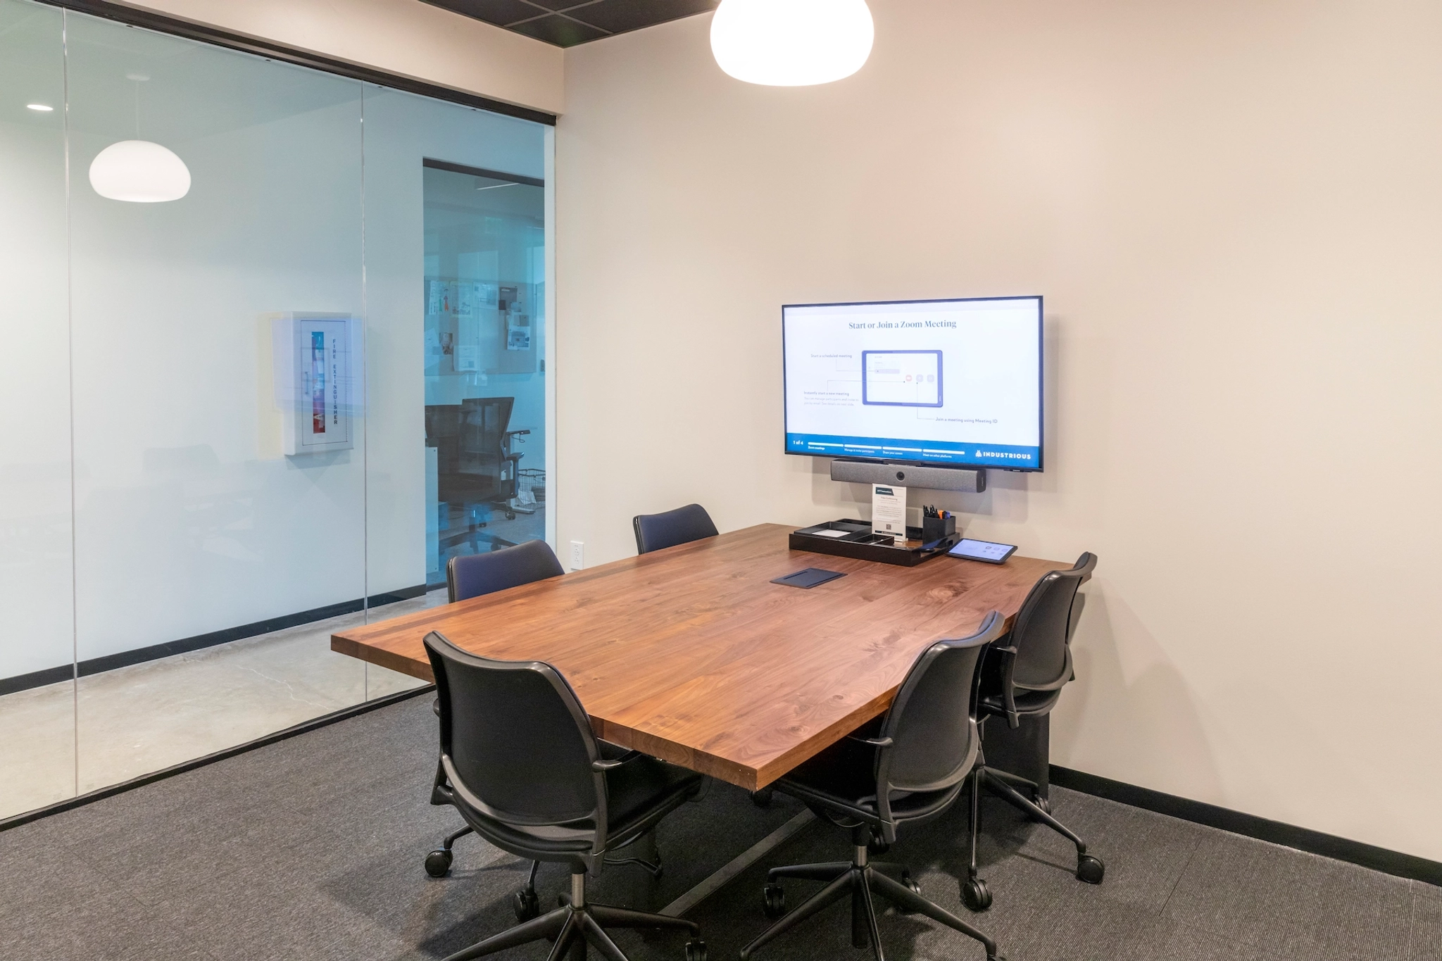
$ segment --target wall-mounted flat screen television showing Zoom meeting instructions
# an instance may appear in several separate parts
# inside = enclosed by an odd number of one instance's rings
[[[786,452],[1041,470],[1041,298],[782,308]]]

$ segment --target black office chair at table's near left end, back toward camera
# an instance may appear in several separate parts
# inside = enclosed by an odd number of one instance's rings
[[[554,941],[549,957],[596,947],[626,955],[606,928],[688,931],[686,961],[705,961],[701,928],[682,918],[593,905],[587,873],[606,854],[656,827],[701,790],[701,775],[640,752],[606,758],[575,692],[542,661],[497,661],[425,635],[441,715],[438,791],[496,847],[571,866],[571,896],[555,911],[492,935],[447,961],[469,961],[532,941]],[[577,945],[581,939],[581,945]]]

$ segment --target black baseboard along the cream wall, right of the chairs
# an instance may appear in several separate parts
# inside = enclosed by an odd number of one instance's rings
[[[1272,821],[1255,814],[1243,814],[1217,807],[1216,804],[1177,797],[1175,794],[1139,788],[1135,784],[1112,781],[1110,778],[1073,771],[1056,764],[1051,765],[1050,778],[1051,784],[1080,791],[1082,794],[1119,801],[1146,811],[1156,811],[1158,814],[1168,814],[1182,821],[1206,824],[1207,827],[1216,827],[1233,834],[1255,837],[1259,841],[1270,841],[1299,852],[1360,864],[1386,875],[1442,886],[1442,863],[1430,862],[1425,857],[1363,844],[1361,841],[1347,840],[1335,834],[1324,834],[1322,831],[1293,824],[1283,824],[1282,821]]]

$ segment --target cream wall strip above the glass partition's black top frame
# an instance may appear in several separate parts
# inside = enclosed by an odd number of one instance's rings
[[[552,114],[564,107],[561,48],[420,0],[149,0],[125,6]]]

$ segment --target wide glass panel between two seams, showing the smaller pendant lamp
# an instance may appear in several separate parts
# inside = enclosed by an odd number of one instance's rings
[[[360,85],[82,16],[68,56],[88,791],[365,699],[326,630],[273,633],[366,594]],[[125,140],[189,192],[101,196]],[[333,389],[317,416],[349,442],[297,447]]]

